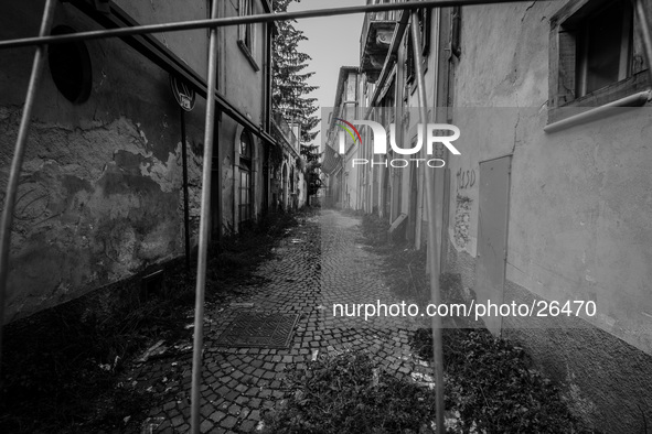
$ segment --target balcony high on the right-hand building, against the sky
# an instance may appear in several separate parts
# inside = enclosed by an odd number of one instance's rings
[[[367,13],[364,17],[360,36],[360,66],[370,83],[378,79],[399,18],[400,11]]]

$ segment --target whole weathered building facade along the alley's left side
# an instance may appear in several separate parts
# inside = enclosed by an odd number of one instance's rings
[[[97,9],[98,6],[105,8]],[[57,2],[53,34],[207,19],[211,1]],[[215,17],[270,12],[267,0],[216,2]],[[9,2],[2,40],[38,34],[44,1]],[[191,245],[199,230],[206,95],[216,99],[212,236],[272,209],[280,147],[271,135],[274,26],[217,31],[217,89],[206,91],[209,31],[53,45],[38,91],[17,197],[8,321],[162,268],[184,253],[182,122]],[[0,187],[7,184],[33,48],[0,54]],[[194,108],[181,116],[171,90]],[[296,160],[289,160],[296,171]]]

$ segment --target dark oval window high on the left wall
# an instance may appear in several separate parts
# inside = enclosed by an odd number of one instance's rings
[[[75,33],[66,25],[52,30],[53,35]],[[52,44],[47,52],[47,64],[54,85],[71,102],[81,104],[90,96],[90,56],[82,41]]]

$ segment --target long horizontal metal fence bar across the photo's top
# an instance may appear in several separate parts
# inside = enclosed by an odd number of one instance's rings
[[[450,8],[457,6],[475,4],[501,4],[501,3],[521,3],[532,0],[425,0],[407,3],[381,3],[365,4],[359,7],[318,9],[313,11],[280,12],[280,13],[260,13],[246,17],[213,18],[210,20],[180,21],[162,24],[148,24],[132,28],[95,30],[89,32],[70,33],[56,36],[23,37],[9,41],[0,41],[0,50],[18,48],[21,46],[56,44],[73,41],[99,40],[105,37],[124,37],[146,33],[175,32],[183,30],[221,28],[227,25],[239,25],[249,23],[267,23],[276,21],[298,20],[318,17],[349,15],[354,13],[382,12],[392,10],[416,10],[421,8]],[[554,0],[547,0],[554,1]]]

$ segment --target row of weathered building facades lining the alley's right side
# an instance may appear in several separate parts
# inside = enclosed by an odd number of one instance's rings
[[[409,21],[366,15],[357,98],[357,119],[394,123],[403,148],[419,122]],[[527,348],[597,430],[642,432],[652,419],[652,111],[639,18],[629,1],[565,0],[421,11],[419,23],[429,121],[461,131],[461,155],[420,154],[446,161],[435,170],[441,269],[461,276],[469,301],[594,306],[485,326]],[[359,155],[371,159],[371,129],[360,132]],[[423,171],[357,169],[352,207],[404,218],[421,248]]]

